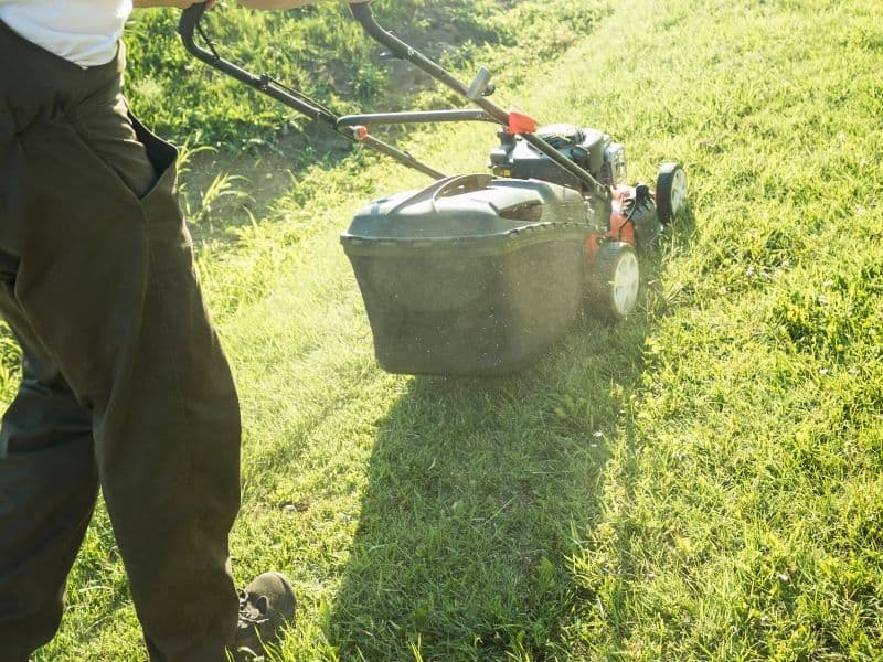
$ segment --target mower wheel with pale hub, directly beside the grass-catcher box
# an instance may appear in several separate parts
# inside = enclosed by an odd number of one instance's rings
[[[592,299],[597,312],[614,321],[628,316],[638,302],[638,255],[631,244],[606,242],[593,265]]]

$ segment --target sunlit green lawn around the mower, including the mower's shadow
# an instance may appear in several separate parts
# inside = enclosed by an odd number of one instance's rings
[[[876,3],[657,4],[616,2],[518,94],[623,139],[636,177],[688,167],[693,215],[625,324],[502,381],[380,372],[336,235],[421,180],[373,160],[204,256],[248,430],[237,574],[302,599],[281,659],[883,655]],[[482,135],[415,150],[480,169],[451,146]],[[139,659],[125,597],[99,515],[38,659]]]

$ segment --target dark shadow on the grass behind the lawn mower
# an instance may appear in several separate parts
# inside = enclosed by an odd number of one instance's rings
[[[692,235],[692,217],[682,227]],[[661,258],[645,263],[646,301],[663,307]],[[379,426],[327,624],[340,659],[555,655],[585,597],[568,559],[598,515],[608,442],[630,426],[659,314],[583,319],[513,377],[411,382]]]

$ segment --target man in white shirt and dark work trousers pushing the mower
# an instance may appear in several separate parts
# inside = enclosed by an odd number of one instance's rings
[[[130,10],[0,0],[0,314],[23,350],[0,429],[8,662],[54,636],[99,485],[151,660],[259,654],[295,610],[278,573],[234,590],[238,403],[173,191],[177,151],[120,94]]]

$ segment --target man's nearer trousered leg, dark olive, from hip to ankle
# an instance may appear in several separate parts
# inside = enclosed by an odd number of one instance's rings
[[[20,259],[12,296],[93,414],[98,478],[151,658],[217,662],[237,620],[227,535],[238,406],[173,193],[174,150],[134,132],[118,82],[91,81],[106,70],[63,73],[77,87],[26,124],[17,115],[15,135],[0,140],[0,248]],[[136,190],[132,162],[152,169],[148,190]]]

